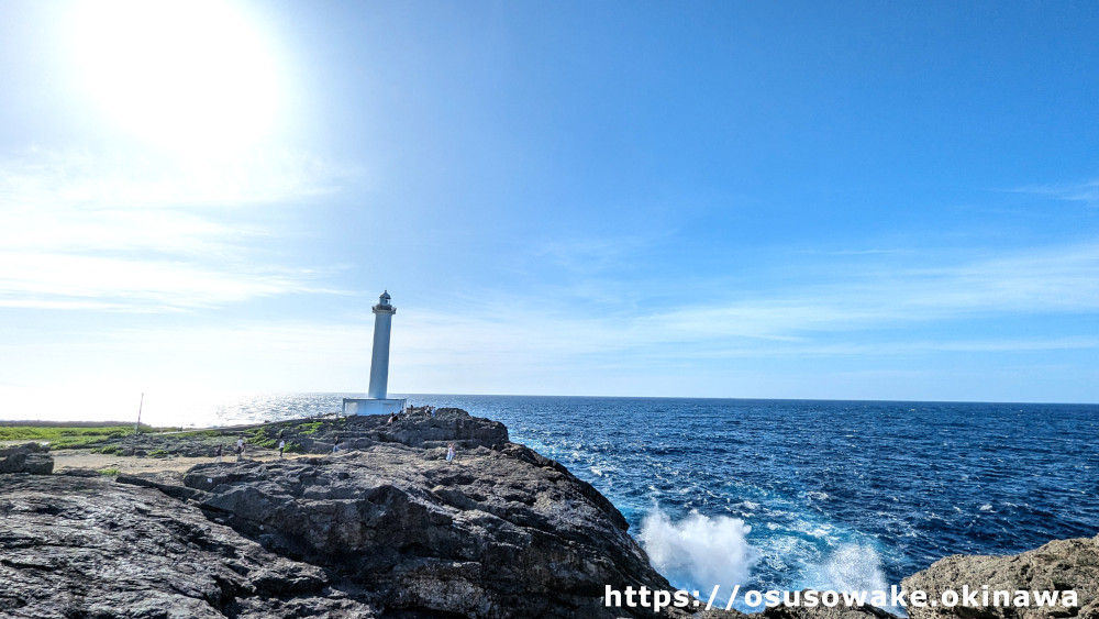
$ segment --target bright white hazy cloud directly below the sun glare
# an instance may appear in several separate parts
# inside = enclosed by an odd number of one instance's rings
[[[242,208],[297,205],[353,170],[308,154],[30,151],[0,162],[0,307],[165,311],[315,290],[257,259]]]

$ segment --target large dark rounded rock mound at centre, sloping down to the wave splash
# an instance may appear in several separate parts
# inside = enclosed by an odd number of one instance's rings
[[[203,464],[201,507],[280,554],[328,566],[386,612],[619,617],[606,585],[667,589],[590,485],[521,445],[376,443],[328,457]],[[652,610],[634,610],[652,617]]]

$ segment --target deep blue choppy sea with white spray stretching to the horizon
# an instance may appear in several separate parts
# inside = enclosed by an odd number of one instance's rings
[[[344,396],[266,395],[219,417]],[[1099,406],[408,397],[502,421],[565,464],[681,587],[888,588],[950,554],[1099,533]]]

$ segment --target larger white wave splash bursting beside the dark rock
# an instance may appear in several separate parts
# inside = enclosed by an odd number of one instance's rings
[[[747,581],[759,560],[759,552],[745,539],[751,531],[739,518],[697,511],[673,522],[657,508],[642,521],[639,537],[653,566],[669,579],[710,589]]]

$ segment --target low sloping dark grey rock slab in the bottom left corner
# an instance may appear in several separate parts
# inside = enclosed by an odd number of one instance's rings
[[[151,488],[12,475],[0,522],[3,617],[376,616],[322,570]]]

